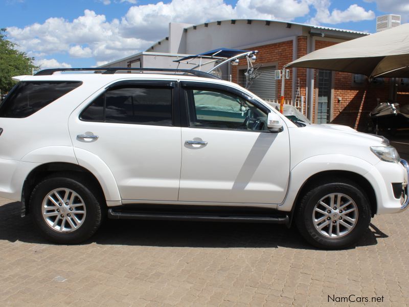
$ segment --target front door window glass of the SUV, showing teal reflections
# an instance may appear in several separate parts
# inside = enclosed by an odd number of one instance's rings
[[[190,126],[239,130],[267,130],[267,114],[234,94],[187,90]]]

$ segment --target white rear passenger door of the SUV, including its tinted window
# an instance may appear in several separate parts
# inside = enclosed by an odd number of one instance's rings
[[[70,117],[74,148],[105,162],[123,200],[177,201],[181,143],[173,116],[175,84],[118,82]]]

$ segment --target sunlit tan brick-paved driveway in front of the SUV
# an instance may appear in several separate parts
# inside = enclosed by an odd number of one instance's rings
[[[409,211],[374,218],[356,248],[322,251],[278,225],[190,222],[108,221],[58,246],[19,210],[0,199],[0,306],[409,304]]]

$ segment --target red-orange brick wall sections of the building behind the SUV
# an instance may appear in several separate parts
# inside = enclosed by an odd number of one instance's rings
[[[315,40],[315,50],[335,45],[337,42]],[[297,58],[307,54],[307,37],[297,37]],[[292,61],[292,40],[272,43],[263,46],[254,46],[247,50],[258,50],[256,63],[278,63],[277,69]],[[246,67],[246,61],[241,59],[239,66]],[[232,81],[238,83],[237,67],[232,67]],[[318,70],[314,70],[315,89],[312,108],[312,119],[315,119],[315,95],[317,94]],[[389,79],[385,78],[382,84],[373,84],[366,81],[363,84],[353,83],[353,74],[333,72],[334,89],[332,96],[333,120],[331,123],[348,125],[365,131],[370,123],[369,112],[376,106],[377,98],[380,102],[388,100]],[[300,79],[300,95],[306,97],[307,70],[297,69],[297,78]],[[296,80],[297,81],[297,80]],[[276,81],[276,96],[280,98],[281,80]],[[399,103],[409,103],[409,86],[398,86],[397,100]],[[290,79],[285,80],[285,97],[292,98],[292,71]],[[338,102],[338,97],[341,98]]]

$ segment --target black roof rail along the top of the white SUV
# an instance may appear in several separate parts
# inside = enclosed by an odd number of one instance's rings
[[[44,69],[34,74],[34,76],[50,76],[55,72],[83,72],[83,71],[94,71],[94,72],[102,72],[102,74],[115,74],[118,71],[137,71],[141,74],[143,72],[172,72],[172,73],[183,73],[183,74],[192,74],[197,77],[202,78],[211,78],[211,79],[219,79],[218,77],[191,69],[171,69],[171,68],[128,68],[128,67],[107,67],[107,68],[52,68],[52,69]]]

